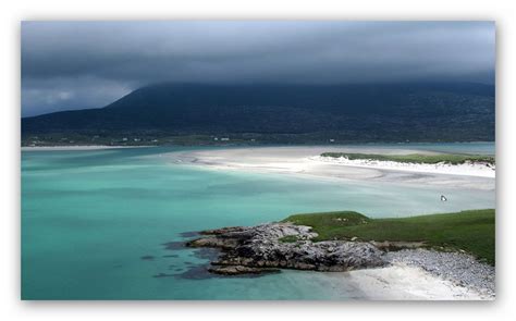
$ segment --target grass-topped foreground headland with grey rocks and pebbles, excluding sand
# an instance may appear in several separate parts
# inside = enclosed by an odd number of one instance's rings
[[[219,248],[208,269],[217,274],[414,267],[492,298],[494,221],[494,209],[401,219],[353,211],[295,214],[257,226],[204,231],[187,246]]]

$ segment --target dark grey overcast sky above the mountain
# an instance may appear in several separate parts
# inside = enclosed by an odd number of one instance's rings
[[[22,115],[159,82],[494,82],[492,22],[24,22]]]

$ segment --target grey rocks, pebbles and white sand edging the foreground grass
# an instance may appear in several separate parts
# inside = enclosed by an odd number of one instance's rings
[[[296,235],[296,243],[281,239]],[[200,232],[186,243],[193,248],[216,248],[210,273],[249,275],[305,270],[335,277],[367,299],[380,300],[493,300],[492,266],[457,251],[425,248],[386,250],[361,240],[312,242],[310,226],[266,223]]]

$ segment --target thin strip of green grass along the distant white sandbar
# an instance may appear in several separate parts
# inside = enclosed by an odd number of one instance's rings
[[[323,152],[322,157],[340,158],[345,157],[349,160],[378,160],[378,161],[395,161],[402,163],[449,163],[449,164],[463,164],[465,162],[482,162],[494,164],[494,157],[482,156],[482,155],[458,155],[458,153],[439,153],[439,155],[421,155],[421,153],[409,153],[409,155],[377,155],[377,153],[347,153],[347,152]]]

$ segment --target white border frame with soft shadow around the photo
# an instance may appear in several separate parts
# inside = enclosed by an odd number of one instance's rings
[[[217,0],[3,1],[0,316],[3,320],[515,320],[516,208],[515,1]],[[307,301],[21,301],[20,300],[20,21],[22,20],[489,20],[496,22],[496,300],[492,303]],[[513,194],[514,197],[514,194]]]

